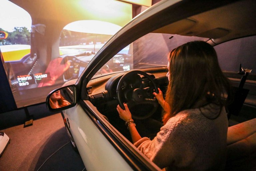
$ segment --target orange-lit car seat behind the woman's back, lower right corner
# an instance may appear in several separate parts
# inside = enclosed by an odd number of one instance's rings
[[[256,170],[256,118],[228,128],[226,170]]]

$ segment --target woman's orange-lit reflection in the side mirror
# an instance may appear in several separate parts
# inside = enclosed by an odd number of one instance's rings
[[[61,107],[65,107],[70,105],[70,103],[65,100],[61,94],[60,94],[60,90],[56,91],[55,93],[53,93],[50,97],[50,106],[53,109],[58,109]]]

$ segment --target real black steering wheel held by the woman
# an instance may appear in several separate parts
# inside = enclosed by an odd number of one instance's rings
[[[145,82],[138,74],[145,76],[150,83],[143,86]],[[129,71],[121,77],[117,84],[116,94],[119,106],[124,110],[124,102],[126,102],[134,119],[146,119],[152,116],[158,107],[158,101],[153,95],[154,90],[158,93],[157,85],[151,76],[139,70]],[[138,110],[136,108],[138,105],[140,109],[146,108],[150,111]],[[147,106],[151,106],[151,108]]]

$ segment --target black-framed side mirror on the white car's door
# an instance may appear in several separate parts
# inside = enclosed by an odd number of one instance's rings
[[[75,85],[68,85],[50,92],[46,98],[46,106],[51,111],[61,111],[74,107],[77,102]]]

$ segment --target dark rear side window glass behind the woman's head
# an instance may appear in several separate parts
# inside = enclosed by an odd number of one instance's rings
[[[214,49],[217,52],[220,67],[223,71],[238,72],[240,63],[243,68],[256,70],[256,36],[231,40]]]

